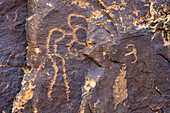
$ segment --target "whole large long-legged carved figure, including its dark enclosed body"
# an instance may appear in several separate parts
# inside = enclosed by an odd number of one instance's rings
[[[55,57],[59,57],[60,60],[62,61],[62,70],[63,70],[63,77],[64,77],[64,82],[66,86],[66,93],[67,93],[67,100],[69,101],[69,80],[66,74],[66,67],[65,67],[65,59],[69,57],[69,55],[73,55],[75,57],[79,57],[78,49],[74,47],[75,44],[80,44],[82,46],[85,46],[86,44],[86,25],[81,25],[78,23],[77,25],[75,23],[72,23],[71,18],[76,17],[79,19],[83,20],[83,16],[81,15],[75,15],[75,14],[70,14],[68,15],[68,26],[72,29],[72,32],[66,32],[65,30],[61,28],[54,27],[49,30],[48,38],[47,38],[47,54],[48,57],[51,59],[53,62],[53,67],[54,67],[54,76],[51,79],[51,83],[49,86],[49,91],[48,91],[48,97],[49,99],[51,98],[51,92],[52,92],[52,87],[55,84],[57,73],[58,73],[58,64],[55,62]],[[79,35],[79,32],[84,30],[84,37],[81,37]],[[59,48],[60,46],[62,47],[62,50]],[[63,50],[63,48],[66,48]]]

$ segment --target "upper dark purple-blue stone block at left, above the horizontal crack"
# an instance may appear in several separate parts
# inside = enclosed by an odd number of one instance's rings
[[[24,67],[26,0],[0,1],[0,64]]]

